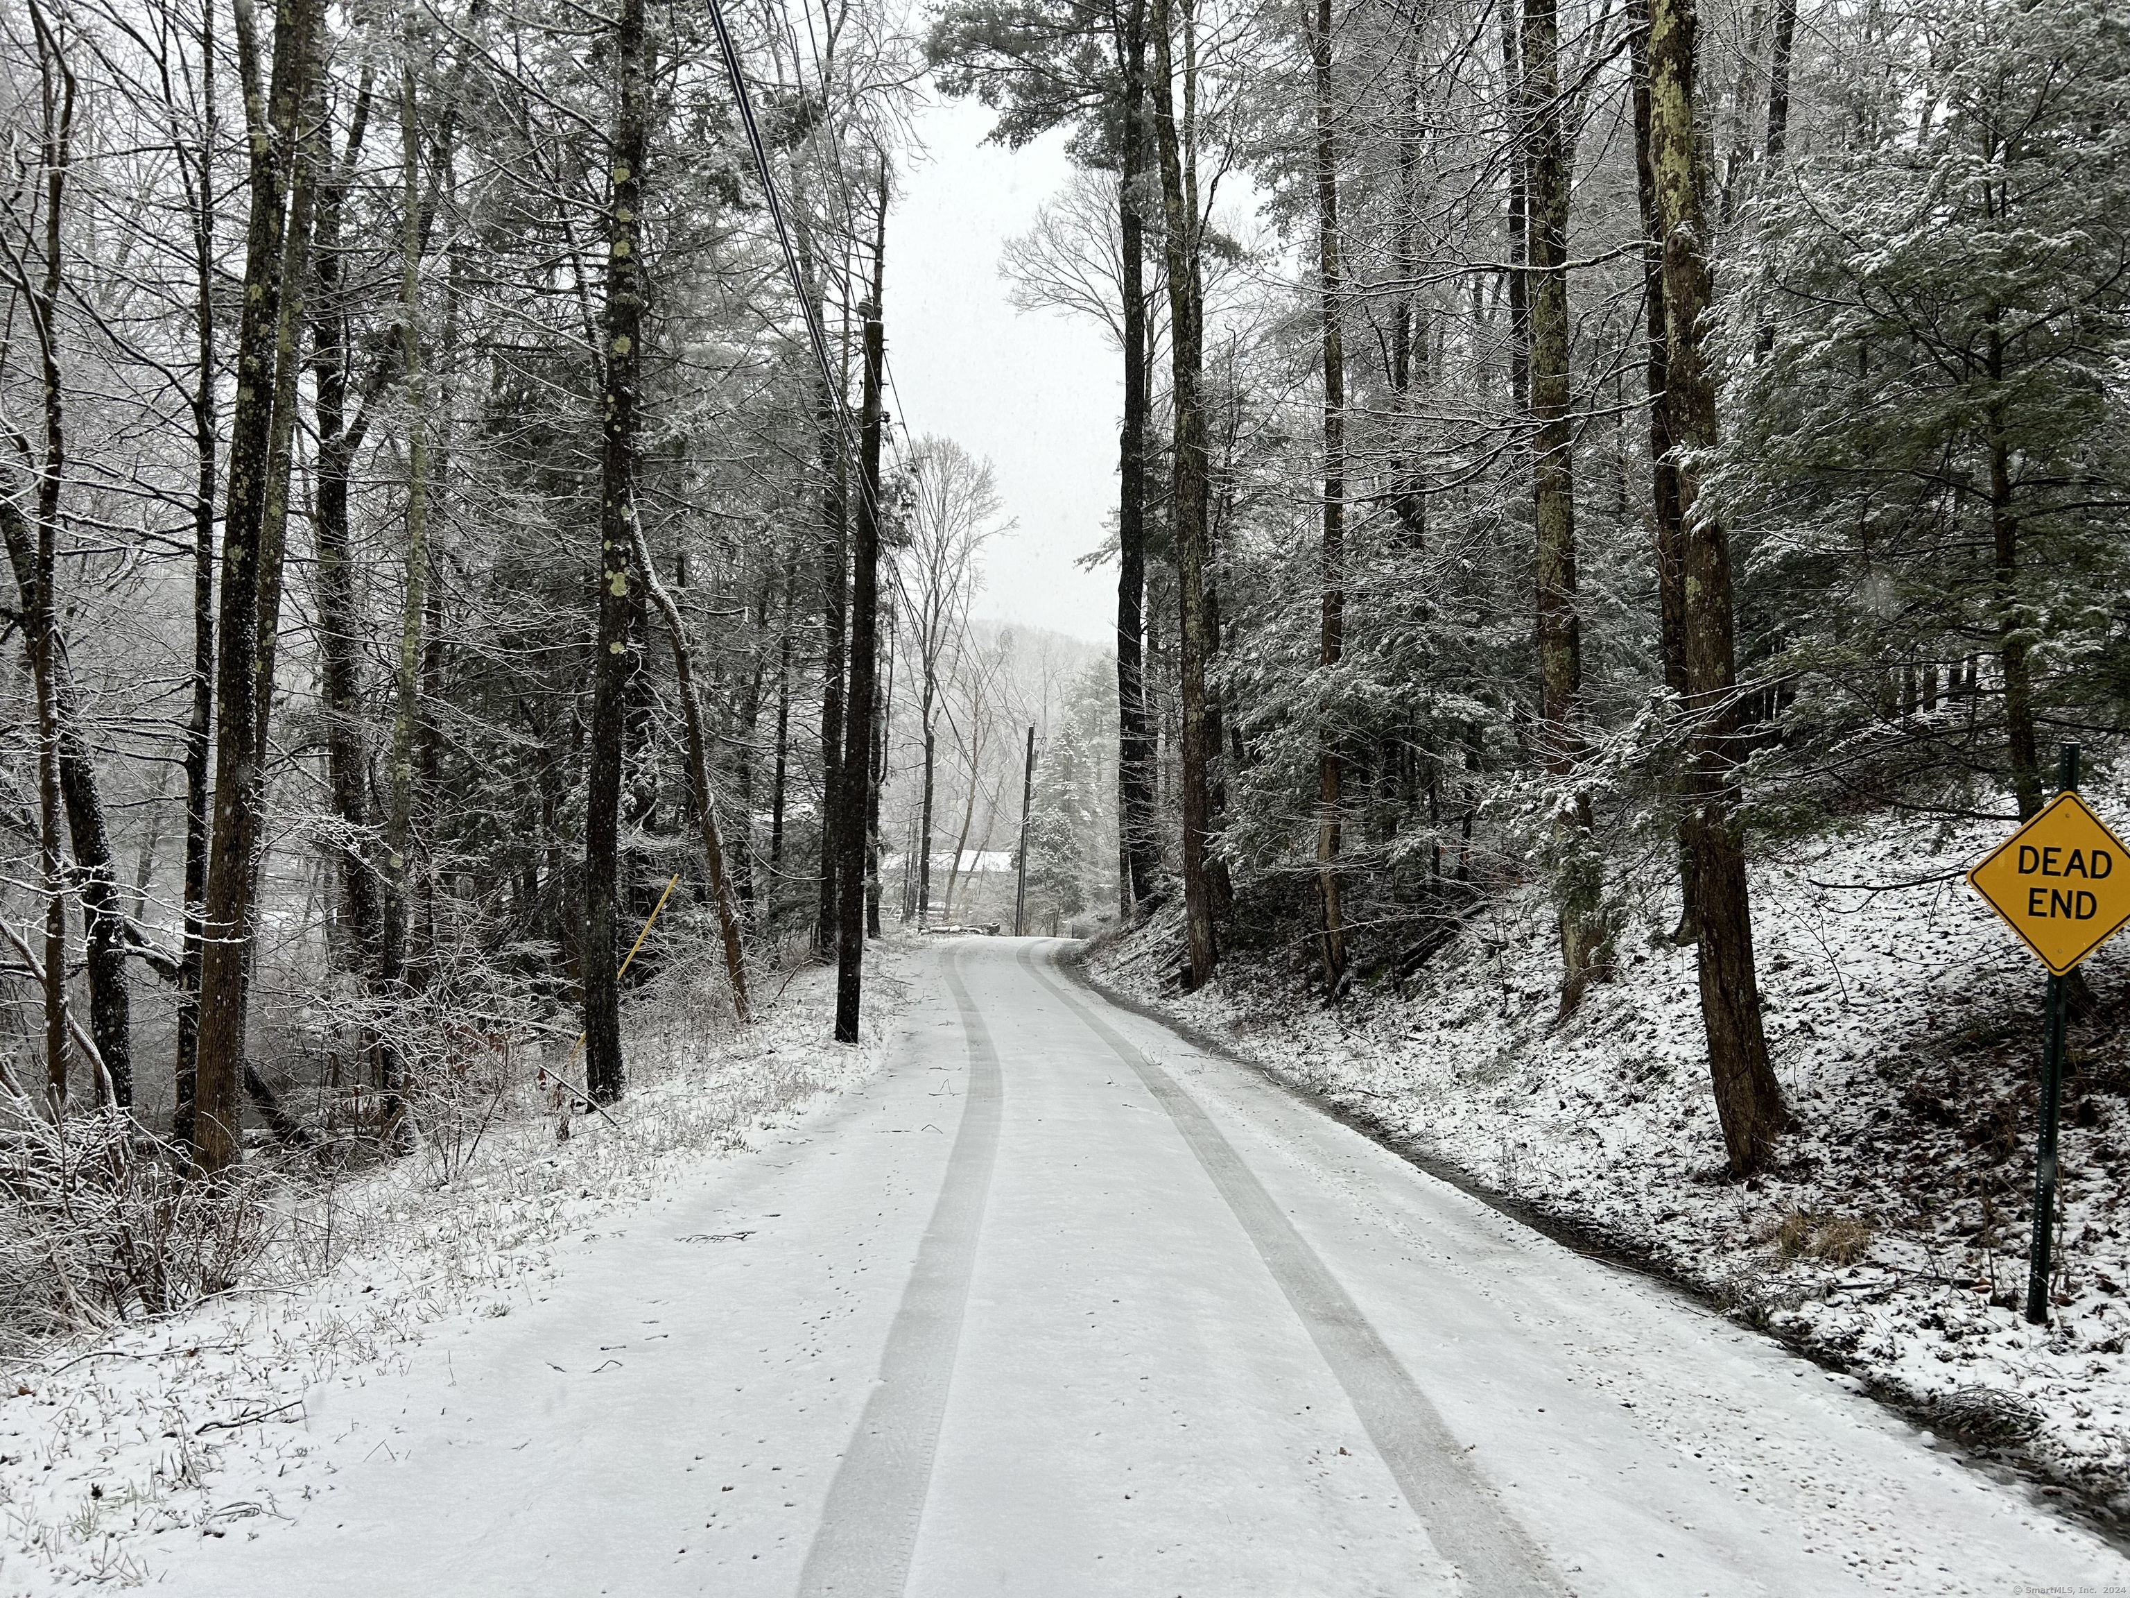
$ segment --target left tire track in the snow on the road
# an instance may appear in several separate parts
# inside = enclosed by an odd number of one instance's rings
[[[999,1153],[999,1050],[963,986],[952,955],[941,961],[969,1040],[969,1087],[931,1225],[903,1289],[880,1383],[829,1483],[820,1530],[799,1575],[799,1598],[901,1598],[931,1487],[939,1419],[954,1379],[961,1317],[969,1302],[976,1240]]]

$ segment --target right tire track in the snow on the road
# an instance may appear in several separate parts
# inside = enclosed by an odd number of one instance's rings
[[[1482,1598],[1559,1598],[1566,1583],[1553,1572],[1546,1555],[1534,1547],[1500,1498],[1465,1468],[1463,1445],[1442,1421],[1440,1411],[1367,1323],[1331,1268],[1272,1202],[1212,1116],[1174,1076],[1059,986],[1033,948],[1020,950],[1020,963],[1080,1016],[1110,1053],[1131,1065],[1154,1102],[1167,1110],[1287,1302],[1301,1317],[1338,1385],[1346,1389],[1361,1428],[1406,1494],[1412,1513],[1421,1517],[1442,1558],[1457,1566],[1465,1587]]]

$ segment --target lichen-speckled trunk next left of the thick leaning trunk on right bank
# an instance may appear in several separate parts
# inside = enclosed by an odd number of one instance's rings
[[[1583,620],[1576,607],[1576,477],[1568,324],[1568,205],[1574,158],[1561,126],[1555,0],[1523,0],[1523,94],[1529,149],[1531,260],[1531,471],[1538,528],[1540,748],[1555,782],[1574,782],[1583,759]],[[1604,967],[1604,861],[1591,839],[1591,795],[1578,788],[1555,814],[1561,923],[1561,1014]]]

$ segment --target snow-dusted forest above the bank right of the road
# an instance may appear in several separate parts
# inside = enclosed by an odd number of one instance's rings
[[[1693,944],[1789,1121],[1747,859],[2043,803],[2130,690],[2130,26],[2090,0],[963,0],[1084,168],[1007,249],[1118,450],[1120,912],[1336,1001],[1546,893]]]

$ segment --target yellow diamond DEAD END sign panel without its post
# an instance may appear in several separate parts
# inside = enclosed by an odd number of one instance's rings
[[[2130,923],[2130,846],[2075,793],[2055,795],[1968,882],[2055,976]]]

